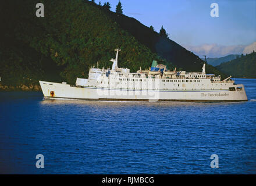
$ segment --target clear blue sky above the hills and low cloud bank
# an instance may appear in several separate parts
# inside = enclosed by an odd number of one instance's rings
[[[109,1],[115,11],[119,0]],[[95,2],[99,2],[98,0]],[[256,0],[122,0],[123,13],[182,45],[248,45],[256,41]],[[211,17],[211,3],[219,17]]]

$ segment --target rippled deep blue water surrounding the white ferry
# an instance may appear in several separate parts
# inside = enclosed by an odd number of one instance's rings
[[[0,93],[0,173],[256,173],[256,80],[248,102],[42,100]],[[219,168],[210,166],[212,154]],[[44,169],[35,156],[44,155]]]

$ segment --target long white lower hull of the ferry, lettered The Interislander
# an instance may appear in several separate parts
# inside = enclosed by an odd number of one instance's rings
[[[229,90],[129,90],[122,88],[73,87],[40,81],[47,99],[67,98],[98,101],[247,101],[246,92]]]

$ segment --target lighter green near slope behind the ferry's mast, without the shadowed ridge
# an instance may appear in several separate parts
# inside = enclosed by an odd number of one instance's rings
[[[5,42],[1,53],[8,55],[1,55],[6,66],[0,70],[3,83],[20,81],[23,74],[30,74],[29,79],[35,81],[37,77],[45,80],[48,69],[56,67],[63,80],[74,83],[76,77],[86,77],[89,66],[97,61],[99,67],[110,67],[115,48],[122,49],[119,66],[132,71],[140,66],[148,68],[158,58],[118,24],[113,24],[101,8],[79,0],[41,2],[45,17],[35,16],[37,1],[5,3]],[[31,52],[26,53],[28,50]],[[31,63],[30,54],[34,56]],[[41,71],[42,66],[46,66],[45,71]],[[19,74],[19,78],[9,71]]]

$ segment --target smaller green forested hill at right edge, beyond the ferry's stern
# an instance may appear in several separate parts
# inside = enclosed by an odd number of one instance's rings
[[[240,58],[222,63],[216,68],[232,77],[256,78],[256,53],[241,55]]]

